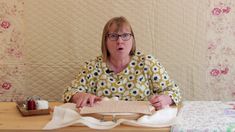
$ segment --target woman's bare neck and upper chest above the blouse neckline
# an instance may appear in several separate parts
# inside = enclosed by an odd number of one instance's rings
[[[128,66],[130,60],[131,60],[130,56],[123,58],[116,58],[110,56],[108,65],[110,70],[114,71],[114,73],[119,73]]]

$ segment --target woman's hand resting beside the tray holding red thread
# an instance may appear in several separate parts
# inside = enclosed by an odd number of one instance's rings
[[[72,102],[76,103],[77,108],[84,106],[93,106],[97,101],[101,101],[102,98],[89,93],[76,93],[72,97]]]

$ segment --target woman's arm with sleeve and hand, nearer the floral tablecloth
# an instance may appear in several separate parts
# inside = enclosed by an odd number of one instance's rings
[[[152,85],[153,96],[150,102],[156,109],[180,102],[181,95],[179,87],[170,79],[165,68],[152,56],[146,58],[149,64],[150,82]]]

